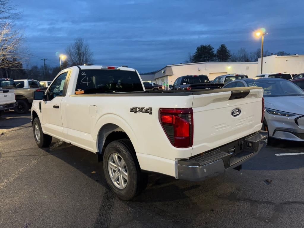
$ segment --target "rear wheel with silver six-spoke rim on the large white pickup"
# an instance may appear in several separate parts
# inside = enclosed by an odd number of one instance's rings
[[[130,200],[147,185],[147,175],[141,173],[130,140],[109,143],[103,157],[105,179],[120,199]],[[145,185],[145,186],[144,186]]]

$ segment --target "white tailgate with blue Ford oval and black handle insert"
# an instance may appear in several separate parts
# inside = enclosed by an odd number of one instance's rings
[[[193,94],[192,156],[261,130],[262,88],[241,87],[216,91]]]

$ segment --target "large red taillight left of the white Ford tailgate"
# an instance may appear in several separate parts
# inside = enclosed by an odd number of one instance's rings
[[[193,145],[193,110],[159,109],[159,122],[174,147]]]

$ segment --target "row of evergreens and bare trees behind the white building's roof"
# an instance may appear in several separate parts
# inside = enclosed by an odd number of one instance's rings
[[[263,51],[263,56],[269,56],[270,53],[268,50]],[[290,55],[285,51],[279,51],[277,55]],[[215,51],[211,44],[202,44],[198,46],[195,50],[195,53],[191,55],[188,53],[186,63],[199,63],[199,62],[256,62],[258,58],[261,57],[261,48],[257,48],[255,51],[248,52],[246,48],[240,48],[236,53],[230,52],[228,47],[225,44],[221,44],[219,48]]]

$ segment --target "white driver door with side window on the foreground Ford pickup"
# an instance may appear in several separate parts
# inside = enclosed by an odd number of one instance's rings
[[[61,100],[65,96],[68,74],[66,71],[57,76],[47,91],[47,99],[41,102],[43,132],[61,140],[64,140]]]

